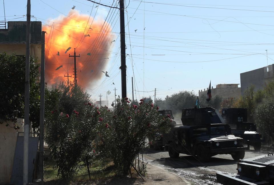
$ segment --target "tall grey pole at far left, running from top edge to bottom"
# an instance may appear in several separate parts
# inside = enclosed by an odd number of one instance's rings
[[[23,157],[23,185],[27,185],[29,175],[29,50],[31,28],[31,0],[27,1],[27,29],[26,29],[26,75],[24,102],[24,157]]]

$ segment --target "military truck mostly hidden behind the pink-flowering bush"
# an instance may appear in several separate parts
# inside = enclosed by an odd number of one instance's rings
[[[176,121],[174,120],[174,116],[172,114],[172,110],[158,110],[160,116],[169,116],[170,119],[172,119],[172,122],[170,123],[171,127],[176,126]],[[163,137],[167,138],[169,137],[169,134],[162,134],[162,133],[157,133],[154,136],[153,141],[150,144],[151,148],[154,148],[154,150],[164,150],[164,146],[167,145],[165,140],[163,140]]]

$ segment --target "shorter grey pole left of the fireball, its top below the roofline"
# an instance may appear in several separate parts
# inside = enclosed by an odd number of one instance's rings
[[[41,41],[41,77],[40,77],[40,126],[39,126],[39,179],[44,184],[44,116],[45,116],[45,31]]]

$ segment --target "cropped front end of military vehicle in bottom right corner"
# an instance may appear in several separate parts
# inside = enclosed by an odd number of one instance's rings
[[[217,173],[217,182],[224,185],[269,185],[274,184],[274,155],[257,156],[240,160],[237,164],[238,174],[229,176]]]

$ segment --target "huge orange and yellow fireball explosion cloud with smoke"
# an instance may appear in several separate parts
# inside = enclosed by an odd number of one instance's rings
[[[48,85],[74,82],[74,48],[76,48],[77,85],[89,87],[104,74],[111,41],[110,25],[93,20],[89,15],[71,10],[68,17],[60,16],[50,26],[43,26],[45,35],[45,81]]]

